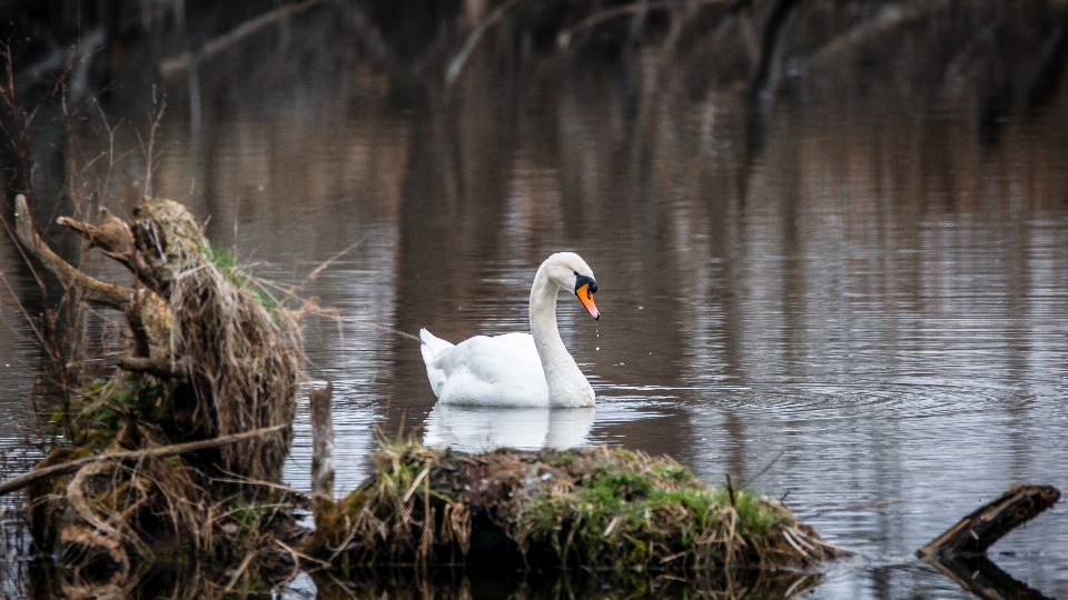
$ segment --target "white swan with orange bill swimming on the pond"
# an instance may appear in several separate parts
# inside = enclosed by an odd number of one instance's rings
[[[578,297],[590,316],[597,282],[578,254],[545,259],[531,288],[531,333],[476,336],[456,346],[419,330],[426,376],[438,401],[495,407],[593,406],[593,388],[571,358],[556,329],[561,288]]]

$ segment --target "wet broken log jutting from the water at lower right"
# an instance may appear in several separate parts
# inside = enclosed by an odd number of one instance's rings
[[[987,548],[1006,533],[1030,521],[1059,499],[1060,490],[1052,486],[1013,486],[920,548],[917,556],[929,561],[983,556]]]

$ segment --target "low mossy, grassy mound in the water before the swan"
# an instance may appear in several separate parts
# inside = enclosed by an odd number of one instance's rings
[[[615,572],[797,568],[840,550],[782,504],[621,449],[487,454],[383,443],[316,511],[307,549],[345,564],[520,562]],[[338,561],[340,557],[340,561]]]

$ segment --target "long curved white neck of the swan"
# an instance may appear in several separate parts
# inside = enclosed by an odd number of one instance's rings
[[[556,296],[560,286],[544,269],[534,276],[531,289],[531,333],[545,371],[550,406],[593,406],[593,389],[560,339],[556,327]]]

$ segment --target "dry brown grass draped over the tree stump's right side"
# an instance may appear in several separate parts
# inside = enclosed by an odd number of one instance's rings
[[[222,272],[192,216],[177,202],[149,200],[135,212],[140,231],[157,232],[157,279],[169,293],[170,327],[155,344],[167,357],[192,359],[192,389],[176,390],[172,412],[192,439],[291,423],[303,363],[296,318],[263,306],[250,278]],[[188,393],[191,391],[191,393]],[[276,480],[291,432],[225,447],[220,467]]]

